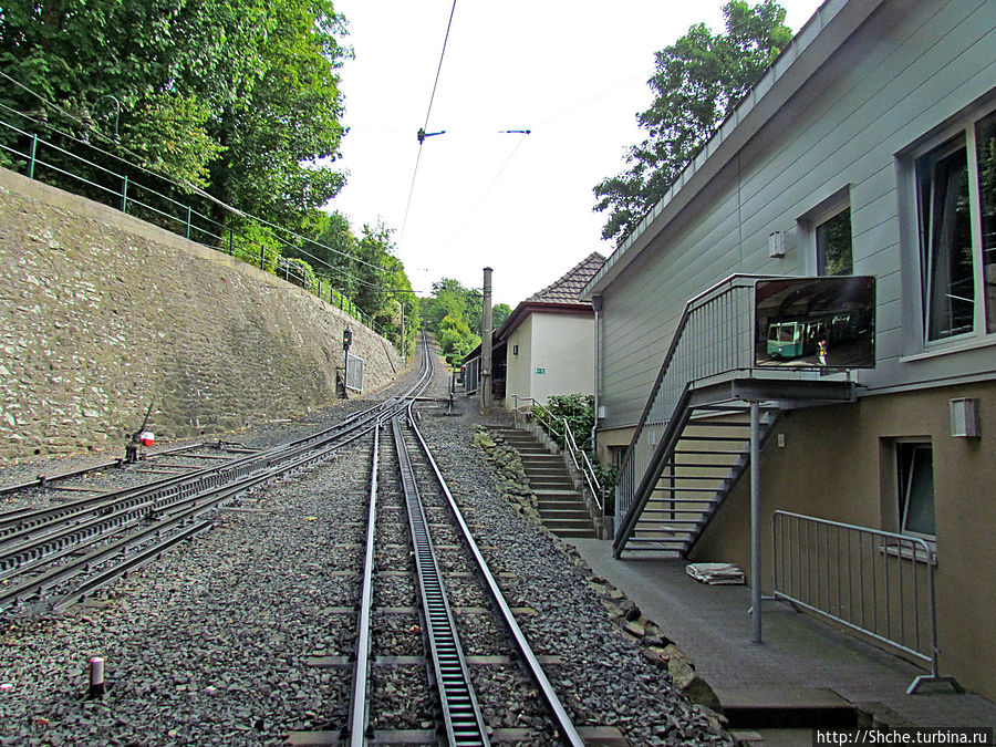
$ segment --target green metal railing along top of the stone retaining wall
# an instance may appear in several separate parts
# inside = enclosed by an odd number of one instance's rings
[[[4,138],[2,135],[9,137]],[[11,147],[9,144],[11,141],[24,143],[23,147],[27,148],[27,152]],[[180,203],[136,181],[128,174],[118,173],[84,158],[56,143],[40,137],[38,133],[28,132],[3,120],[0,120],[0,154],[7,154],[13,162],[10,166],[15,170],[23,172],[30,179],[53,184],[60,189],[68,189],[75,185],[76,194],[110,205],[122,212],[230,255],[278,277],[282,276],[289,282],[293,282],[338,307],[384,336],[383,330],[369,314],[364,314],[349,298],[335,290],[331,282],[307,277],[302,267],[293,261],[288,261],[273,248],[253,241],[232,226],[218,222],[190,204]],[[121,170],[126,170],[125,167],[131,167],[132,170],[143,170],[127,162],[117,160]],[[251,216],[246,214],[232,212],[230,209],[229,211],[234,217],[251,219]]]

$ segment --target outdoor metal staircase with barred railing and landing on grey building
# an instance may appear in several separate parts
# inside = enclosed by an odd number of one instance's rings
[[[685,557],[784,409],[853,401],[850,381],[755,367],[754,286],[766,279],[733,276],[686,304],[620,468],[616,558]]]

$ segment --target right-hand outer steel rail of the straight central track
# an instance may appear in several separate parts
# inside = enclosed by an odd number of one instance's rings
[[[407,418],[408,425],[412,427],[412,432],[418,440],[418,444],[423,453],[425,454],[429,466],[433,469],[433,474],[436,477],[439,489],[446,496],[446,500],[449,504],[449,508],[453,512],[455,521],[457,522],[457,526],[459,526],[460,528],[464,540],[467,542],[467,547],[470,550],[470,553],[474,556],[474,560],[477,562],[478,571],[480,572],[481,578],[485,580],[485,583],[487,584],[488,590],[491,593],[491,599],[495,601],[495,604],[501,613],[501,616],[505,620],[506,625],[508,626],[512,641],[515,642],[516,647],[519,650],[519,653],[526,662],[526,667],[529,671],[530,676],[536,682],[537,687],[539,687],[539,691],[542,694],[543,701],[552,712],[557,720],[557,725],[560,727],[563,739],[574,747],[583,747],[584,741],[578,734],[578,729],[577,727],[574,727],[570,716],[567,713],[567,709],[560,702],[560,697],[553,689],[553,685],[550,684],[550,681],[543,672],[539,660],[532,652],[532,647],[529,645],[529,641],[526,639],[526,634],[516,622],[515,615],[511,612],[511,608],[509,608],[505,595],[501,593],[501,589],[498,587],[498,582],[495,580],[494,574],[488,568],[487,561],[481,554],[480,549],[477,547],[477,542],[475,541],[474,536],[470,533],[470,528],[464,520],[464,515],[457,506],[456,499],[453,497],[453,494],[449,490],[449,486],[446,484],[446,479],[443,477],[443,473],[439,471],[439,467],[436,464],[435,458],[433,458],[433,454],[429,450],[428,445],[425,443],[425,439],[422,437],[422,433],[418,430],[418,426],[415,424],[415,418],[413,416],[411,406],[408,407]]]

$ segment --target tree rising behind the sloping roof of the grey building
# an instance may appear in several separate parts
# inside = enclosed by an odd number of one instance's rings
[[[602,238],[622,241],[661,200],[737,103],[791,41],[775,0],[723,7],[726,33],[704,23],[655,55],[653,104],[636,121],[647,131],[626,154],[630,168],[594,187],[595,210],[608,211]]]

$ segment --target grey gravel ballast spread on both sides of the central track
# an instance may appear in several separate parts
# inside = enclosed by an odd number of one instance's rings
[[[623,633],[570,546],[502,498],[471,445],[476,404],[458,404],[450,416],[425,406],[423,434],[509,603],[530,609],[519,624],[533,651],[559,657],[548,676],[575,724],[614,726],[632,745],[733,744],[645,643]],[[238,440],[263,445],[302,427],[274,425]],[[352,647],[354,621],[343,608],[359,595],[370,448],[353,444],[258,488],[222,511],[212,531],[64,614],[0,618],[0,744],[279,745],[290,732],[339,730],[351,673],[307,662]],[[412,601],[404,588],[393,595],[385,602]],[[377,636],[402,640],[411,624],[407,615],[381,620]],[[412,655],[409,643],[397,655]],[[105,658],[107,692],[87,699],[94,656]],[[505,675],[495,668],[497,682]],[[413,672],[397,670],[394,702],[378,707],[406,713]],[[535,710],[516,697],[509,725],[517,710],[527,720]],[[425,713],[419,702],[408,728],[427,728]]]

